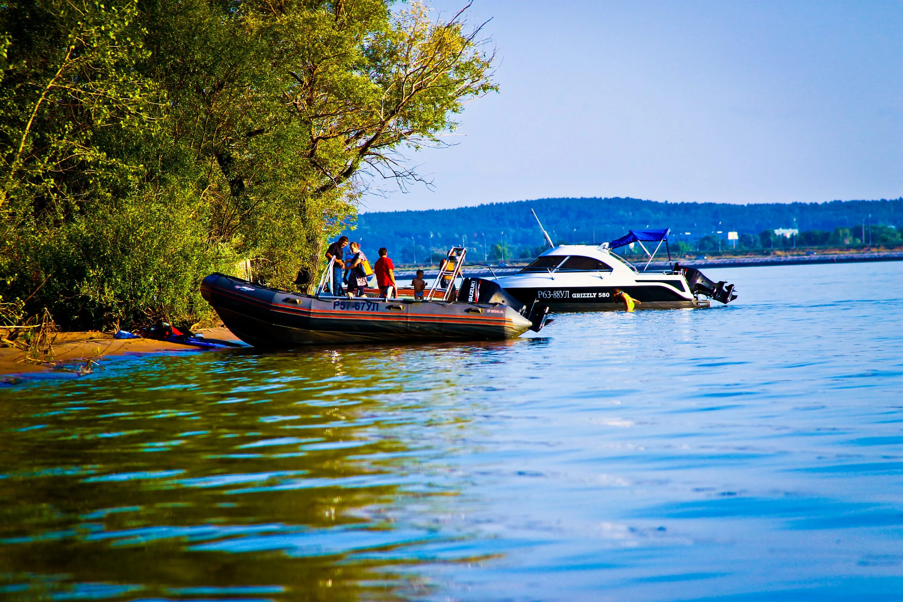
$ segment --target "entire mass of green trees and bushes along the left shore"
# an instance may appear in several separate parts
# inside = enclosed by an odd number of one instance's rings
[[[291,288],[370,176],[416,179],[405,150],[496,89],[479,29],[415,4],[37,0],[0,19],[0,282],[66,328],[205,320],[200,279],[239,259]]]

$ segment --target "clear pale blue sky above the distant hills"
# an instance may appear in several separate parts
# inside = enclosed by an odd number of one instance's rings
[[[427,3],[448,18],[465,2]],[[500,91],[364,211],[903,195],[903,2],[475,0]]]

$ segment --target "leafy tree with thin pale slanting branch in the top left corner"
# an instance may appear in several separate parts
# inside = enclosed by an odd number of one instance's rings
[[[0,208],[52,224],[135,186],[135,135],[152,126],[156,97],[135,73],[136,2],[44,0],[0,14]]]

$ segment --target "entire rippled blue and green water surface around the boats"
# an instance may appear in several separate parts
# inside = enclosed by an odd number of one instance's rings
[[[903,263],[0,390],[12,600],[903,599]]]

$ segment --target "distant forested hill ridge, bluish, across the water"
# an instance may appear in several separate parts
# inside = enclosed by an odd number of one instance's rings
[[[346,231],[361,241],[365,252],[376,255],[386,246],[397,261],[427,259],[427,249],[439,252],[465,244],[475,257],[491,256],[504,245],[507,256],[518,256],[543,244],[530,214],[534,208],[556,243],[601,243],[623,235],[629,228],[670,227],[672,241],[694,241],[707,235],[758,235],[763,230],[795,227],[834,230],[836,227],[903,225],[903,199],[834,200],[825,203],[668,203],[641,199],[536,199],[491,203],[478,207],[364,213],[358,226]],[[869,218],[869,216],[871,216]],[[689,234],[686,234],[689,233]],[[432,237],[431,237],[432,235]],[[485,243],[484,243],[485,241]],[[484,251],[484,244],[486,250]]]

